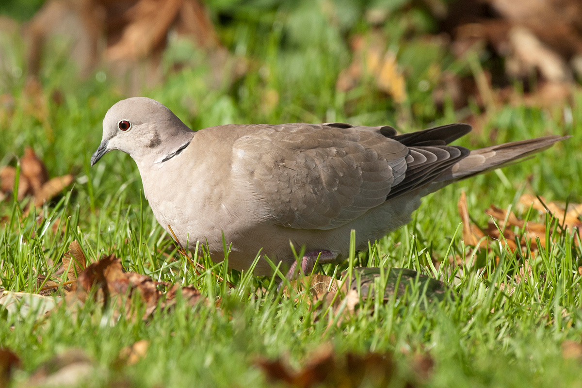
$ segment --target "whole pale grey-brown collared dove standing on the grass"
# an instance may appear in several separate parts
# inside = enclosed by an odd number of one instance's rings
[[[222,125],[192,131],[150,98],[113,105],[93,166],[112,149],[137,163],[158,222],[189,248],[208,246],[228,265],[248,269],[258,252],[293,276],[290,247],[336,262],[410,221],[420,198],[454,181],[508,165],[565,137],[546,136],[469,151],[448,145],[469,133],[449,124],[397,134],[390,126],[343,123]],[[258,261],[255,275],[271,266]]]

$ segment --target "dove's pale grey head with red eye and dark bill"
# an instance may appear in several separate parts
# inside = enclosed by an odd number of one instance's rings
[[[103,138],[91,156],[91,166],[113,149],[129,154],[138,164],[164,158],[181,147],[193,132],[168,108],[151,98],[119,101],[103,119]]]

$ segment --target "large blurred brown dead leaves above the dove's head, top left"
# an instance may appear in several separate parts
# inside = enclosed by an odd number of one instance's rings
[[[104,60],[111,70],[108,75],[128,83],[133,94],[143,83],[152,86],[162,80],[161,59],[171,35],[205,49],[209,59],[217,61],[213,68],[226,70],[230,59],[200,0],[49,0],[27,23],[24,35],[31,76],[40,73],[47,42],[65,37],[69,58],[81,76],[92,74]],[[232,80],[241,75],[228,74]],[[42,109],[36,111],[31,114],[42,114]]]

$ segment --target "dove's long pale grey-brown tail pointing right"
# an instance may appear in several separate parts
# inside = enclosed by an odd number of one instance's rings
[[[455,163],[450,170],[443,173],[429,187],[430,191],[438,190],[449,183],[462,180],[480,173],[485,173],[501,167],[517,163],[527,156],[536,154],[551,147],[560,140],[570,136],[544,136],[530,140],[512,141],[511,143],[492,145],[473,149],[465,158]]]

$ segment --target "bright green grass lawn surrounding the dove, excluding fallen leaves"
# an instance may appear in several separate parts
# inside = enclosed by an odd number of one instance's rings
[[[229,2],[211,4],[215,15],[233,17],[218,30],[231,52],[252,60],[246,76],[232,84],[210,87],[205,81],[210,69],[204,65],[203,54],[185,45],[181,50],[171,49],[166,63],[180,54],[194,58],[194,65],[169,74],[161,86],[143,91],[194,129],[230,122],[335,121],[392,124],[413,130],[463,120],[466,115],[450,106],[439,112],[431,91],[417,88],[430,63],[438,62],[441,70],[470,72],[469,65],[437,48],[429,50],[403,40],[404,31],[430,31],[423,15],[396,13],[386,22],[386,31],[392,31],[391,45],[399,48],[399,62],[410,69],[409,99],[398,106],[375,91],[372,83],[364,82],[347,94],[335,89],[338,73],[350,62],[345,34],[367,31],[359,16],[306,35],[308,27],[302,23],[319,26],[325,20],[321,10],[307,2],[278,12],[268,2],[264,11]],[[0,39],[3,52],[12,53],[6,59],[9,65],[19,69],[24,68],[21,43],[17,37]],[[449,297],[427,308],[414,297],[419,290],[412,289],[407,297],[378,304],[373,314],[362,308],[339,325],[329,326],[337,317],[321,312],[318,319],[310,318],[313,314],[306,302],[278,296],[270,279],[251,277],[243,282],[240,273],[227,272],[222,264],[212,265],[205,257],[198,259],[209,269],[197,276],[157,225],[129,156],[112,152],[94,168],[89,167],[105,112],[126,95],[111,78],[72,81],[72,64],[58,56],[47,55],[43,63],[45,116],[31,113],[24,78],[10,75],[18,72],[0,78],[0,94],[14,99],[11,107],[0,106],[0,165],[14,164],[15,155],[31,146],[51,176],[73,172],[76,181],[36,213],[23,216],[24,204],[0,202],[0,217],[6,217],[0,224],[0,286],[34,292],[36,276],[54,272],[70,242],[77,240],[90,261],[113,253],[122,258],[127,270],[196,286],[212,301],[221,298],[221,304],[219,308],[214,303],[199,304],[194,309],[179,304],[171,312],[157,312],[147,322],[125,318],[113,322],[110,309],[94,304],[77,312],[63,306],[45,319],[34,314],[25,319],[7,316],[0,321],[0,345],[23,359],[23,371],[16,375],[13,386],[42,362],[76,347],[108,371],[87,386],[127,379],[136,387],[267,387],[272,384],[253,366],[257,357],[288,357],[298,368],[326,343],[332,343],[339,354],[393,351],[401,367],[395,386],[403,386],[409,370],[407,351],[427,351],[435,359],[427,386],[575,387],[582,383],[579,361],[564,359],[561,351],[563,341],[580,341],[582,335],[579,241],[575,243],[568,233],[555,232],[555,244],[527,258],[533,275],[519,284],[513,274],[523,259],[498,246],[484,258],[482,270],[460,270],[448,264],[450,255],[470,252],[460,237],[456,207],[462,190],[467,192],[471,216],[481,225],[488,220],[483,211],[489,204],[514,207],[523,193],[548,200],[582,200],[582,94],[574,96],[572,106],[553,111],[498,106],[489,112],[484,132],[469,134],[459,144],[471,148],[489,145],[491,129],[498,130],[495,143],[546,134],[573,137],[534,159],[428,196],[409,225],[355,259],[356,265],[382,262],[437,277],[452,287]],[[278,93],[278,104],[261,109],[262,98],[271,90]],[[51,98],[55,91],[64,96],[61,104]],[[563,109],[572,113],[571,122],[563,119]],[[42,219],[38,214],[44,215]],[[543,222],[543,216],[534,213],[533,218]],[[52,230],[55,224],[56,232]],[[162,252],[176,260],[166,260]],[[494,264],[495,256],[501,258],[499,265]],[[432,261],[442,262],[436,272],[428,265]],[[331,275],[347,268],[345,263],[322,270]],[[217,283],[217,273],[226,276],[235,289]],[[499,289],[496,283],[502,281],[516,287],[513,294]],[[267,292],[256,299],[249,297],[261,287]],[[141,339],[150,341],[147,356],[132,366],[115,366],[120,349]]]

